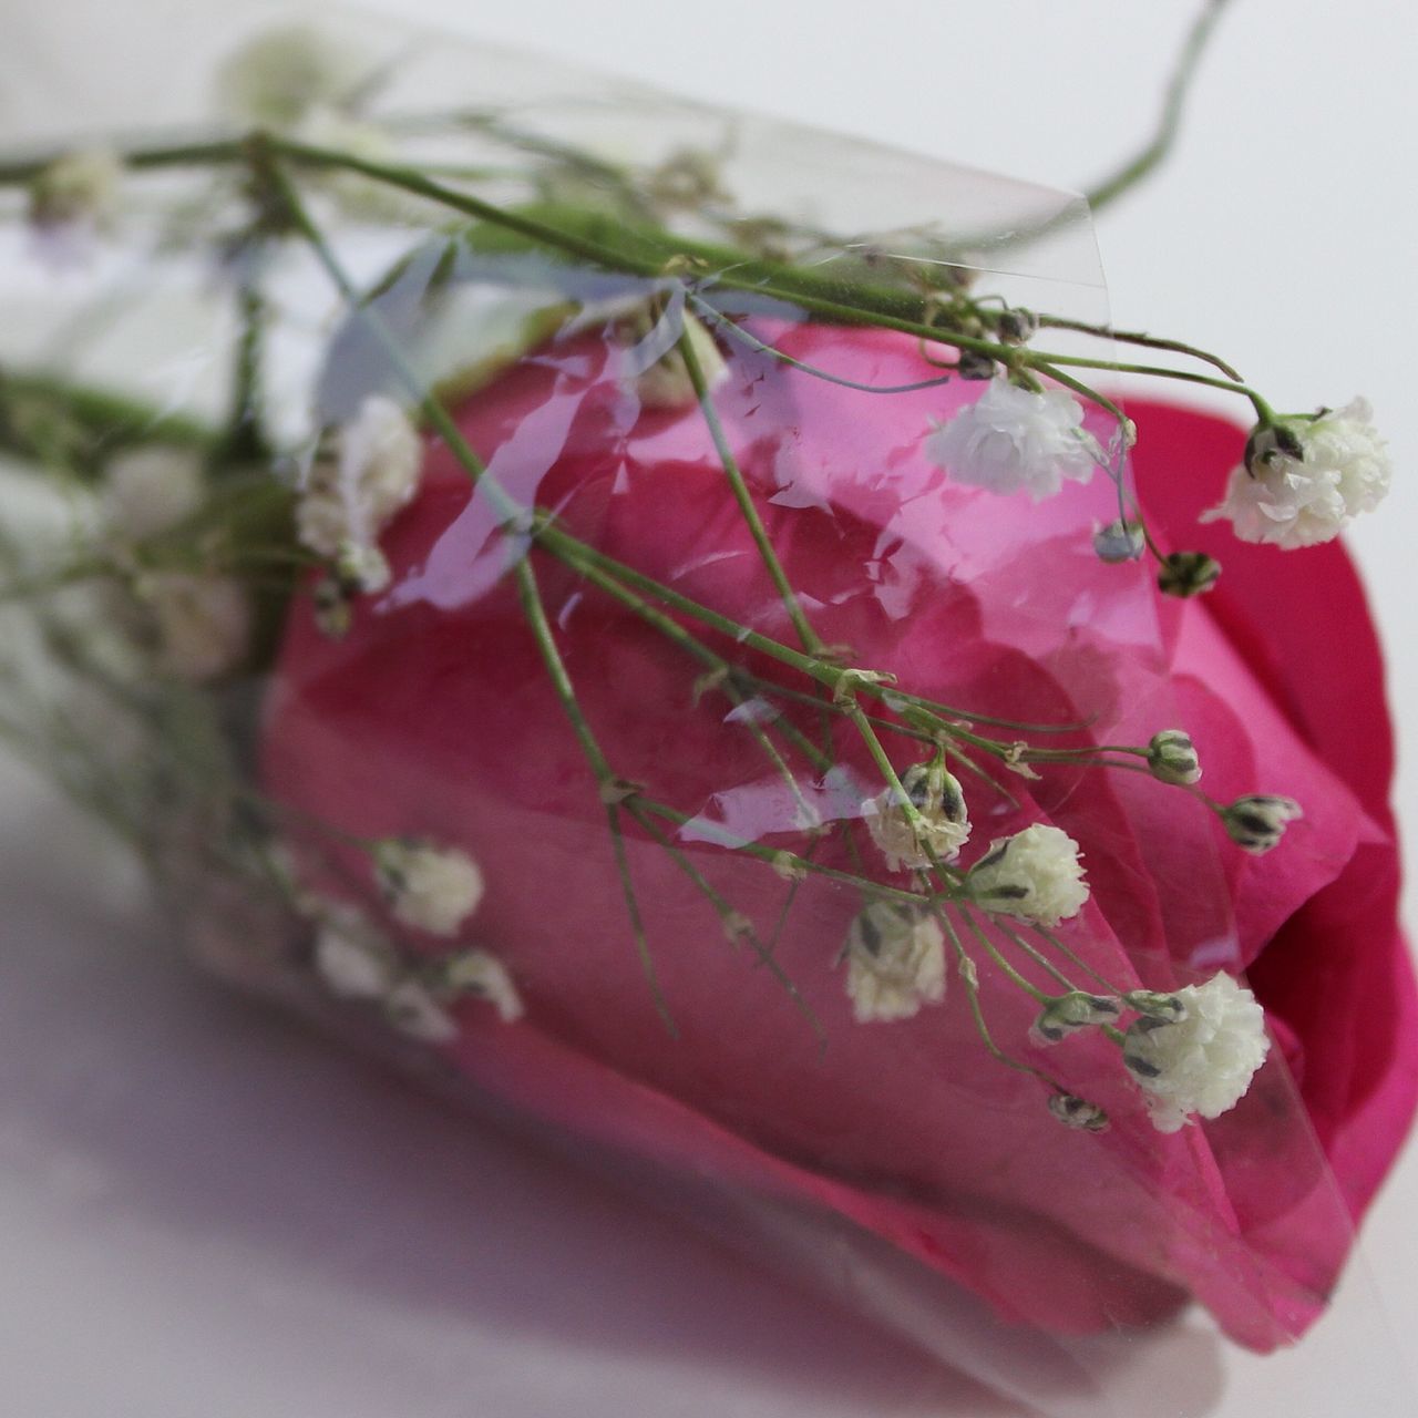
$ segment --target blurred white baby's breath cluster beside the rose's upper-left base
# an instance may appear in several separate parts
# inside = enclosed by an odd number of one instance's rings
[[[359,564],[359,554],[374,550],[380,532],[418,489],[423,457],[408,414],[394,400],[370,394],[349,423],[320,438],[295,509],[301,542],[328,562]]]

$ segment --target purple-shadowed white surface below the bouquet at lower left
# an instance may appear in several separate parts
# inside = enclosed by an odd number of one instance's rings
[[[11,1411],[1022,1411],[200,980],[88,824],[6,787]]]

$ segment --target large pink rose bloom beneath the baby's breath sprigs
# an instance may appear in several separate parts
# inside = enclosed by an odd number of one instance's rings
[[[760,335],[859,383],[936,373],[891,333]],[[506,488],[557,509],[576,536],[791,644],[700,414],[642,408],[623,360],[596,336],[542,349],[469,400],[459,427]],[[1225,563],[1208,600],[1161,601],[1146,566],[1105,566],[1092,552],[1093,529],[1117,515],[1105,476],[1032,505],[954,484],[929,461],[930,420],[978,384],[888,396],[744,352],[732,366],[716,406],[824,641],[976,713],[1090,720],[1112,743],[1185,727],[1215,797],[1303,803],[1303,822],[1256,859],[1146,776],[1048,769],[1039,781],[1010,777],[1012,801],[966,778],[974,835],[963,861],[1029,821],[1082,845],[1092,902],[1062,933],[1123,988],[1254,966],[1279,1048],[1234,1112],[1157,1132],[1116,1048],[1093,1034],[1044,1059],[1028,1042],[1032,1001],[988,961],[981,1000],[995,1038],[1106,1107],[1109,1133],[1061,1126],[1035,1079],[987,1055],[959,978],[939,1008],[854,1022],[834,961],[859,902],[810,879],[774,959],[821,1020],[824,1048],[630,824],[672,1037],[627,926],[596,781],[502,574],[523,547],[441,445],[383,540],[393,584],[359,607],[347,638],[323,638],[303,604],[292,614],[267,715],[268,791],[346,832],[428,837],[481,865],[486,895],[467,936],[505,960],[526,1017],[506,1025],[478,1003],[459,1007],[447,1056],[478,1088],[598,1140],[834,1208],[1021,1322],[1088,1332],[1195,1296],[1255,1349],[1299,1334],[1407,1127],[1418,1046],[1394,915],[1378,654],[1344,553],[1286,557],[1198,529],[1242,437],[1144,408],[1139,481],[1160,535],[1215,542]],[[1106,423],[1089,425],[1106,438]],[[702,666],[530,554],[615,771],[716,828],[803,849],[791,797],[753,736],[725,722],[722,698],[695,702]],[[821,732],[813,710],[787,713]],[[832,733],[841,767],[813,791],[824,815],[849,817],[881,781],[848,727]],[[919,757],[891,742],[899,769]],[[679,841],[770,937],[787,883],[693,831]],[[326,891],[379,909],[357,851],[312,837],[302,855]],[[841,837],[817,859],[854,866]],[[875,858],[869,869],[902,881]],[[386,925],[414,949],[448,949]]]

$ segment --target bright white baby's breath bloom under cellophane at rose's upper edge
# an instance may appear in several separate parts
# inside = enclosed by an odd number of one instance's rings
[[[1096,442],[1083,430],[1083,408],[1064,389],[1035,394],[1007,379],[988,389],[926,437],[926,457],[956,482],[991,492],[1052,498],[1064,481],[1088,482]]]

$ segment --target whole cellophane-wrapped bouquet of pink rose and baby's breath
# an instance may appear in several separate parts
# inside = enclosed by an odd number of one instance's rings
[[[0,730],[204,964],[739,1239],[1296,1341],[1415,1100],[1367,404],[1107,326],[1075,200],[441,57],[0,162]]]

